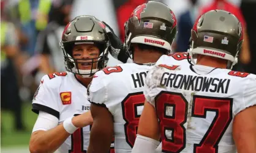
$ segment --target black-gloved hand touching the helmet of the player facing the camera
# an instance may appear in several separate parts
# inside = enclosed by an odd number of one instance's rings
[[[105,24],[105,32],[108,38],[110,39],[110,54],[122,63],[126,63],[127,59],[129,59],[129,55],[127,55],[126,51],[124,51],[124,45],[122,41],[118,38],[113,29],[110,26],[108,26],[107,23],[105,23],[104,21],[102,21],[102,23]]]

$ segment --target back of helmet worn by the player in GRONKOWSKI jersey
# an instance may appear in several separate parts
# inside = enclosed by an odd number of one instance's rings
[[[235,15],[224,10],[211,10],[201,15],[191,30],[191,62],[195,64],[197,54],[209,55],[227,60],[227,68],[232,69],[238,62],[242,43],[242,26]]]

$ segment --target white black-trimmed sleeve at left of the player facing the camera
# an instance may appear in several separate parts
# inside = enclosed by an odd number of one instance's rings
[[[39,111],[49,113],[59,119],[59,87],[61,80],[51,80],[48,75],[42,77],[41,83],[37,88],[34,98],[32,100],[32,111],[39,113]]]

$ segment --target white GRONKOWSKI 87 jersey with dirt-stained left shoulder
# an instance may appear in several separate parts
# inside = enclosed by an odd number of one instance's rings
[[[144,94],[159,117],[162,152],[233,153],[233,119],[256,105],[256,76],[162,64],[148,72]]]

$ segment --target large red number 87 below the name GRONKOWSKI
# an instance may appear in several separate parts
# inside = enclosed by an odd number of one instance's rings
[[[162,91],[156,97],[156,111],[160,119],[163,152],[181,152],[186,147],[188,102],[181,93]],[[216,153],[220,139],[232,121],[233,101],[229,98],[194,96],[192,117],[206,118],[206,112],[216,112],[211,126],[199,144],[194,144],[194,153]],[[167,114],[167,112],[169,112]],[[171,136],[165,135],[170,133]]]

